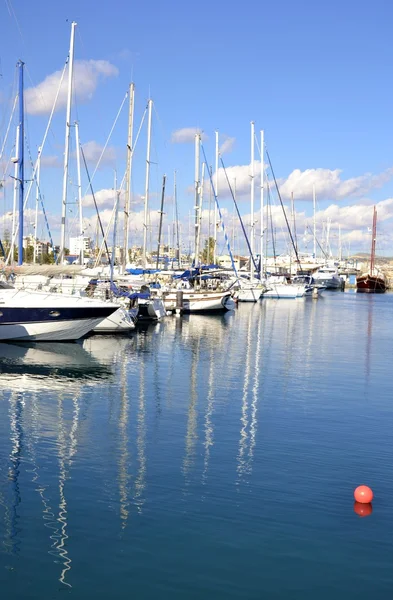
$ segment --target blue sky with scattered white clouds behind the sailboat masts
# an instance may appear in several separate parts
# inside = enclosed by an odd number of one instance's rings
[[[164,233],[172,236],[173,173],[182,245],[193,236],[194,134],[200,131],[209,166],[215,164],[215,131],[221,157],[235,185],[240,212],[250,224],[250,122],[255,122],[255,231],[260,243],[260,130],[272,161],[283,203],[290,213],[293,193],[299,246],[312,251],[313,186],[317,198],[317,237],[337,253],[368,252],[372,210],[378,211],[377,251],[393,255],[393,107],[390,24],[393,5],[331,0],[276,0],[241,4],[123,0],[67,3],[2,0],[0,47],[0,237],[11,227],[16,117],[16,62],[25,62],[26,162],[36,160],[69,50],[76,21],[74,93],[71,122],[78,121],[81,144],[104,226],[110,222],[126,163],[128,99],[135,83],[138,131],[153,100],[149,197],[149,236],[156,246],[162,177],[167,176]],[[65,80],[67,79],[67,74]],[[43,150],[40,190],[51,235],[60,240],[66,84],[60,90]],[[122,110],[119,113],[119,109]],[[116,117],[119,116],[116,120]],[[116,121],[116,122],[115,122]],[[6,140],[6,131],[9,135]],[[131,244],[143,230],[146,118],[135,146],[132,171]],[[113,128],[112,135],[108,136]],[[96,169],[104,145],[106,151]],[[75,128],[71,128],[67,191],[67,237],[78,235]],[[264,226],[276,232],[284,251],[284,216],[272,171],[265,162]],[[245,252],[239,221],[221,168],[218,199],[235,252]],[[31,177],[28,164],[26,179]],[[28,186],[28,184],[26,184]],[[270,187],[271,209],[266,208]],[[86,235],[96,218],[86,173],[82,173]],[[204,236],[208,233],[210,187],[203,197]],[[209,199],[210,198],[210,199]],[[123,195],[120,196],[121,205]],[[35,189],[27,202],[25,232],[33,233]],[[272,215],[272,225],[270,223]],[[268,218],[269,216],[269,218]],[[122,243],[122,206],[118,243]],[[168,232],[168,227],[170,231]],[[213,225],[211,225],[210,232]],[[306,233],[307,232],[307,233]],[[42,211],[37,236],[48,239]],[[265,233],[266,236],[266,233]],[[226,252],[221,223],[219,252]]]

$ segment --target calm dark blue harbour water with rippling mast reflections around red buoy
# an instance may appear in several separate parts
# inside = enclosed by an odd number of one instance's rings
[[[325,293],[0,344],[2,598],[387,600],[392,340]]]

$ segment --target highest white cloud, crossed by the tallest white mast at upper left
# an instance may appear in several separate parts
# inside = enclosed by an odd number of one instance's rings
[[[25,91],[26,110],[31,115],[45,115],[52,110],[60,83],[61,71],[48,75],[37,86]],[[107,60],[76,60],[74,63],[73,93],[79,102],[87,102],[93,96],[101,79],[114,77],[118,69]],[[56,110],[67,105],[67,73],[64,76],[57,100]]]

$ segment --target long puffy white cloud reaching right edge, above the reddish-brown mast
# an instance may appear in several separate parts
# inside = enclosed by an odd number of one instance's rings
[[[278,182],[280,193],[284,198],[289,198],[293,192],[299,200],[311,200],[315,185],[315,193],[319,200],[360,197],[389,181],[393,177],[393,168],[377,175],[366,173],[350,179],[342,179],[341,174],[340,169],[295,169],[285,180]]]

